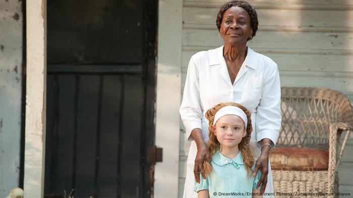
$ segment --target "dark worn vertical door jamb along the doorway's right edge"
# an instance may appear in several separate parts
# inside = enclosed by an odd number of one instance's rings
[[[141,182],[139,194],[143,197],[153,197],[154,192],[154,166],[155,159],[148,162],[149,148],[155,146],[155,102],[156,102],[156,48],[158,26],[158,0],[143,1],[143,49],[142,69],[144,82],[144,112],[142,117],[141,146],[142,166],[141,172],[144,180]]]

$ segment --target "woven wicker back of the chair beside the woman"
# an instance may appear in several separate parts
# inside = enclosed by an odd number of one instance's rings
[[[330,124],[353,124],[348,98],[332,89],[282,87],[281,115],[277,146],[328,149]]]

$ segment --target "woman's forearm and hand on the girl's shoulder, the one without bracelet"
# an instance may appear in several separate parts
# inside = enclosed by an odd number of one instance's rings
[[[207,148],[205,141],[203,140],[201,129],[193,129],[191,132],[191,136],[195,140],[197,146],[197,154],[195,157],[195,165],[194,165],[194,176],[196,182],[200,183],[200,172],[203,170],[203,162],[208,161],[211,163],[211,154]],[[206,179],[206,175],[201,173],[202,177]]]

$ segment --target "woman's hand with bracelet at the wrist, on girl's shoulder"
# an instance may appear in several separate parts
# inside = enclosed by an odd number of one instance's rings
[[[264,143],[264,141],[262,143],[266,144]],[[253,176],[256,176],[258,171],[259,170],[261,171],[261,177],[256,186],[256,188],[258,188],[262,184],[261,191],[260,191],[261,193],[265,192],[266,185],[267,185],[269,153],[270,153],[270,146],[265,145],[261,150],[260,157],[256,161],[255,170],[253,172]]]

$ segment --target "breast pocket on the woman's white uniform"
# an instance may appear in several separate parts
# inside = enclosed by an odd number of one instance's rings
[[[251,77],[247,82],[247,103],[253,110],[259,105],[262,95],[262,83],[263,79],[259,77]]]

